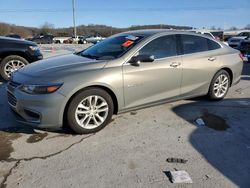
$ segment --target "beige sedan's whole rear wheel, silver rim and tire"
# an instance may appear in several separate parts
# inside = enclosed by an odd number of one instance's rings
[[[227,71],[220,70],[212,79],[209,87],[208,96],[212,100],[223,99],[230,87],[230,76]]]

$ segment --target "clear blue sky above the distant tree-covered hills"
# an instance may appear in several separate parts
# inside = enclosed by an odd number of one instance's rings
[[[115,27],[173,24],[192,27],[244,27],[250,0],[75,0],[76,24]],[[0,22],[39,27],[72,26],[72,0],[0,0]]]

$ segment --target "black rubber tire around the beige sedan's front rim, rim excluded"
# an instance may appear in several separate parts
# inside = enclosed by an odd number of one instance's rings
[[[77,109],[78,104],[88,96],[100,96],[103,99],[105,99],[106,103],[108,104],[108,115],[104,122],[99,125],[96,128],[93,129],[86,129],[80,126],[77,123],[77,120],[75,118],[75,111]],[[114,111],[114,104],[111,96],[104,90],[99,89],[99,88],[90,88],[87,90],[83,90],[76,94],[73,99],[70,101],[70,104],[67,109],[67,124],[69,125],[70,128],[73,129],[78,134],[90,134],[90,133],[95,133],[101,129],[103,129],[110,121]]]

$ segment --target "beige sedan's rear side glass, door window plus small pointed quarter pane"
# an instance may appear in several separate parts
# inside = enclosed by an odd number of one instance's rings
[[[184,54],[215,50],[221,47],[218,43],[204,37],[194,35],[181,35],[181,38]]]

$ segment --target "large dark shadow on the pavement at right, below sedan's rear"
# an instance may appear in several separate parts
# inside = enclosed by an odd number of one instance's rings
[[[250,98],[209,102],[194,100],[172,109],[197,128],[189,141],[222,176],[239,187],[250,185]],[[202,119],[204,124],[198,123]],[[201,172],[209,176],[209,172]],[[211,177],[211,175],[210,175]]]

